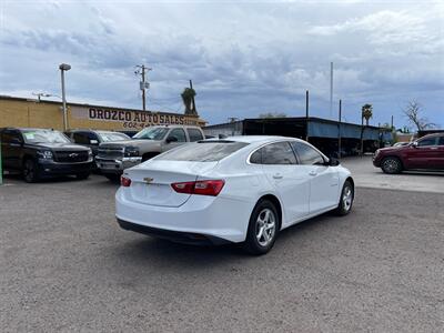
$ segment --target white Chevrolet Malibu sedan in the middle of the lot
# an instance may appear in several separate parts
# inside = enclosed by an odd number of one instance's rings
[[[115,194],[121,228],[183,243],[270,251],[279,232],[335,210],[347,214],[347,169],[284,137],[204,140],[125,170]]]

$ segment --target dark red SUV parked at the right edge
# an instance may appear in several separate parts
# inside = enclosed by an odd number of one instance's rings
[[[444,133],[425,135],[408,145],[379,149],[373,155],[373,165],[385,173],[411,169],[444,170]]]

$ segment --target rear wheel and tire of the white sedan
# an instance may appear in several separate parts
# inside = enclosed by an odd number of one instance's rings
[[[268,253],[274,245],[281,225],[274,203],[269,200],[260,201],[254,208],[246,232],[243,248],[253,255]]]

